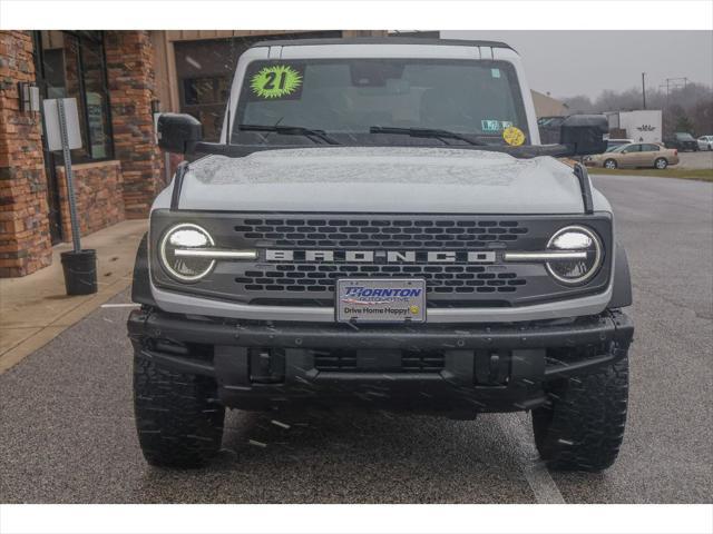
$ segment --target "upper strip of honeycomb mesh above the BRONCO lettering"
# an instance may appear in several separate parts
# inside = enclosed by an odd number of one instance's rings
[[[285,247],[484,248],[528,233],[517,220],[260,218],[243,219],[244,238]]]

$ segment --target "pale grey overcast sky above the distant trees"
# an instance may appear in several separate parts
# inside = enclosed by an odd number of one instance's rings
[[[553,97],[657,88],[666,78],[713,86],[711,31],[442,31],[442,38],[505,41],[525,62],[530,87]]]

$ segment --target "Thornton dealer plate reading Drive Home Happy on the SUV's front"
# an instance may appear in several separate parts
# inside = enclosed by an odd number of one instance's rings
[[[421,278],[341,278],[335,298],[338,323],[426,322]]]

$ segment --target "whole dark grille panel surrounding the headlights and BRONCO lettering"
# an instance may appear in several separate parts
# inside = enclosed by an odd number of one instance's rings
[[[217,261],[196,284],[176,281],[162,268],[157,250],[166,229],[177,221],[206,228],[222,248],[257,249],[260,259]],[[605,264],[589,284],[566,287],[541,264],[502,260],[507,251],[543,250],[555,231],[569,225],[592,227],[603,238]],[[339,278],[423,278],[429,308],[521,306],[604,290],[611,274],[611,230],[606,216],[155,210],[152,281],[180,294],[243,304],[331,307]],[[271,249],[292,250],[294,258],[267,260],[265,250]],[[334,258],[312,261],[309,250],[329,250]],[[371,251],[373,261],[348,260],[351,250]],[[400,254],[398,261],[389,261],[387,251]],[[429,261],[432,251],[452,251],[455,261]],[[495,261],[469,263],[469,251],[495,253]]]

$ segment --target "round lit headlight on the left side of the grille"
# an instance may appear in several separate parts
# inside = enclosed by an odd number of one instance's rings
[[[176,225],[160,240],[160,260],[174,278],[180,281],[196,281],[211,273],[215,260],[191,256],[191,250],[214,245],[211,234],[198,225],[188,222]]]

